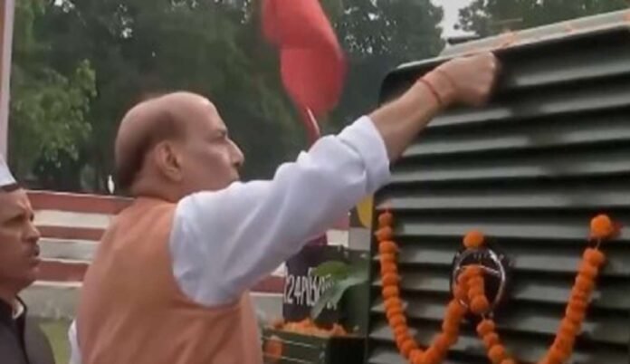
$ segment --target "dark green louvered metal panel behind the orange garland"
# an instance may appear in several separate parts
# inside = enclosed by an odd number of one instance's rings
[[[482,229],[514,262],[499,331],[521,363],[535,363],[564,314],[590,218],[606,212],[630,226],[630,31],[611,26],[499,56],[504,73],[492,102],[434,120],[375,203],[377,212],[387,203],[396,216],[402,295],[417,340],[430,342],[438,332],[453,255],[466,231]],[[381,101],[440,62],[390,73]],[[573,363],[630,363],[630,227],[605,250]],[[367,362],[403,363],[372,256]],[[444,362],[464,363],[488,363],[473,328]]]

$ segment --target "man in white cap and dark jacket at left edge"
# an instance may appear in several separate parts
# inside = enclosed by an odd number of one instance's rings
[[[54,364],[50,343],[26,317],[18,294],[37,276],[39,232],[26,192],[0,155],[0,361],[2,364]]]

